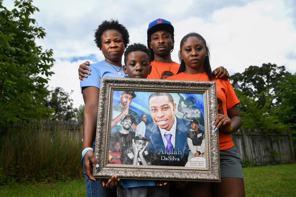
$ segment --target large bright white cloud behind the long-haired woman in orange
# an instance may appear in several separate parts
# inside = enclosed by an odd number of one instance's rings
[[[286,54],[296,48],[296,31],[291,28],[292,19],[277,17],[279,13],[285,15],[281,2],[224,8],[213,13],[212,22],[193,17],[175,23],[175,41],[178,44],[191,31],[200,33],[210,45],[212,69],[223,65],[231,74],[268,62],[295,72],[295,61],[288,60]]]

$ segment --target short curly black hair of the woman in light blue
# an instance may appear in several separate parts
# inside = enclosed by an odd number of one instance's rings
[[[97,47],[101,50],[102,48],[102,34],[107,30],[117,30],[119,33],[121,33],[123,38],[124,46],[126,47],[130,43],[130,34],[128,30],[118,22],[118,20],[105,20],[102,22],[101,25],[98,26],[98,28],[95,30],[95,39],[94,41],[97,44]]]

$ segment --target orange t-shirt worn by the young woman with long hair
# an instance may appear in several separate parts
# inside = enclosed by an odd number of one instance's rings
[[[167,79],[174,80],[188,80],[188,81],[209,81],[208,74],[206,72],[201,74],[186,74],[179,73],[171,76]],[[218,114],[227,115],[227,110],[233,107],[236,104],[239,104],[240,101],[235,95],[233,87],[229,80],[222,80],[213,78],[212,81],[216,82],[217,88],[217,109]],[[226,150],[234,146],[230,133],[219,130],[219,148],[220,150]]]

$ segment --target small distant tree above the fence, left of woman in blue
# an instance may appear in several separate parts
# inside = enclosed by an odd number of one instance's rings
[[[77,108],[73,108],[73,99],[70,98],[71,93],[66,92],[61,87],[56,87],[50,92],[46,98],[45,107],[55,110],[54,119],[71,120],[76,118]]]

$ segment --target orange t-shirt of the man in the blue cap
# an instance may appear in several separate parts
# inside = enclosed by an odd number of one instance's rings
[[[148,75],[147,79],[166,79],[169,76],[173,76],[176,74],[179,70],[180,64],[173,62],[171,63],[162,63],[162,62],[156,62],[152,61],[150,63],[152,66],[152,71]],[[171,66],[171,68],[170,68]]]

